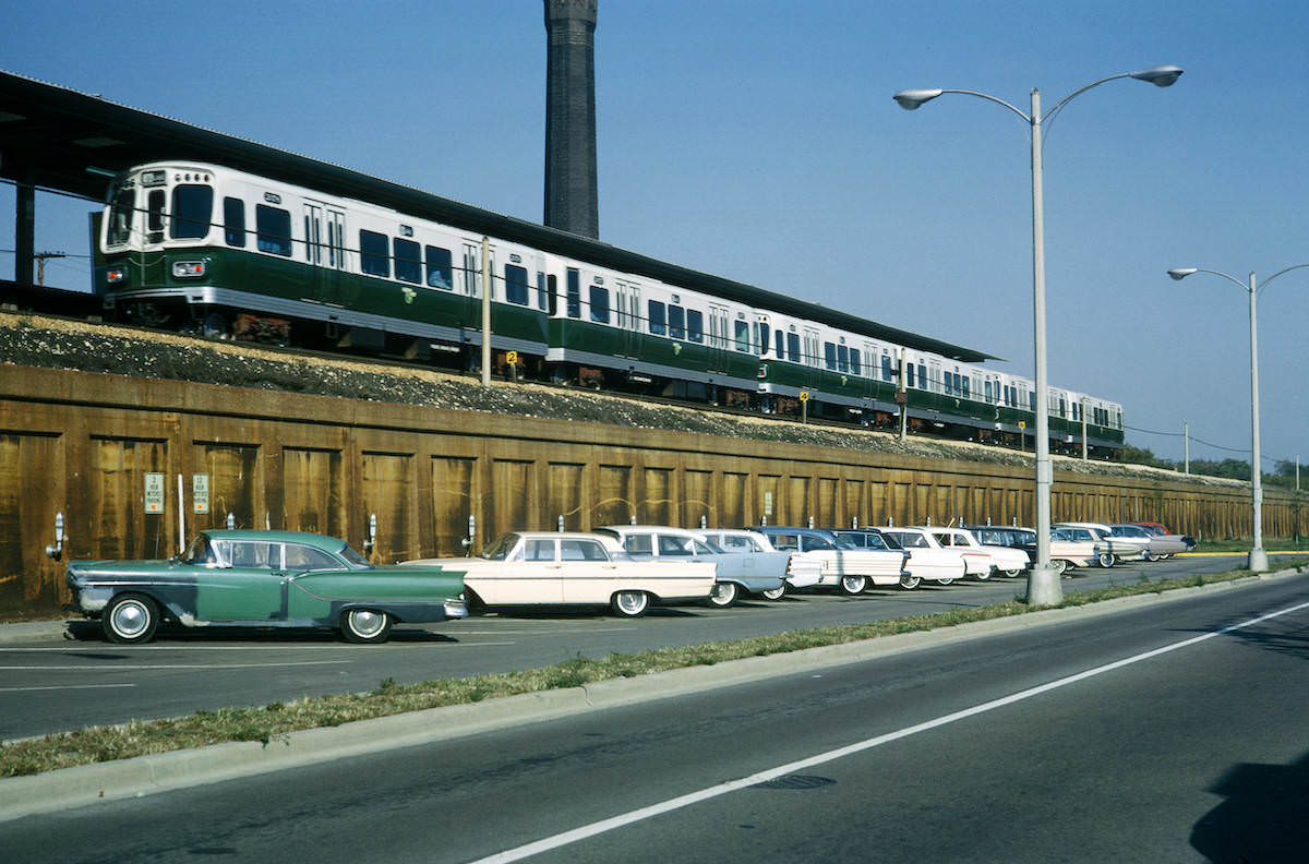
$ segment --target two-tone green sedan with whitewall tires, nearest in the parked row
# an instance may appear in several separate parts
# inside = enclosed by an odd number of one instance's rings
[[[72,562],[73,606],[110,641],[185,627],[334,627],[386,641],[394,622],[463,618],[463,569],[374,567],[346,541],[301,531],[206,530],[169,560]]]

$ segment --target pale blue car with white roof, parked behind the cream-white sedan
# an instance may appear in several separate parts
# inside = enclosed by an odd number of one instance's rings
[[[755,552],[742,555],[728,552],[695,531],[664,525],[606,525],[596,529],[597,534],[609,534],[618,539],[623,551],[635,559],[653,558],[656,560],[708,562],[715,564],[713,590],[706,601],[709,606],[726,609],[733,605],[741,592],[762,594],[766,590],[785,592],[787,564],[791,555],[785,552]]]

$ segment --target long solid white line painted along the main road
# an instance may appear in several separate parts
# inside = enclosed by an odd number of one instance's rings
[[[1266,615],[1259,615],[1258,618],[1251,618],[1244,621],[1240,624],[1232,624],[1230,627],[1224,627],[1223,630],[1215,630],[1208,634],[1202,634],[1191,639],[1183,639],[1182,641],[1175,641],[1170,645],[1164,645],[1162,648],[1156,648],[1153,651],[1147,651],[1145,653],[1136,655],[1134,657],[1127,657],[1124,660],[1117,660],[1103,666],[1096,666],[1094,669],[1088,669],[1086,672],[1080,672],[1075,675],[1068,675],[1067,678],[1060,678],[1058,681],[1051,681],[1050,683],[1043,683],[1020,693],[1011,694],[1008,696],[1001,696],[1000,699],[992,699],[991,702],[983,702],[982,704],[973,706],[971,708],[965,708],[962,711],[956,711],[954,713],[948,713],[935,720],[928,720],[925,723],[919,723],[912,727],[906,727],[905,729],[898,729],[895,732],[888,732],[886,734],[880,734],[876,738],[868,738],[857,744],[852,744],[836,750],[829,750],[827,753],[819,753],[817,755],[809,757],[806,759],[800,759],[798,762],[791,762],[788,765],[778,766],[775,768],[768,768],[767,771],[761,771],[758,774],[751,774],[747,778],[741,778],[740,780],[729,780],[719,785],[711,785],[698,792],[691,792],[675,799],[669,799],[668,801],[661,801],[658,804],[652,804],[620,816],[615,816],[607,819],[601,819],[600,822],[592,822],[590,825],[584,825],[572,831],[564,831],[563,834],[556,834],[554,837],[547,837],[545,839],[537,840],[534,843],[528,843],[517,848],[505,850],[504,852],[497,852],[483,859],[478,859],[473,864],[503,864],[505,861],[518,861],[533,855],[539,855],[541,852],[548,852],[550,850],[556,850],[562,846],[568,846],[569,843],[576,843],[579,840],[585,840],[588,838],[603,834],[606,831],[613,831],[614,829],[624,827],[641,819],[648,819],[654,816],[662,816],[664,813],[670,813],[673,810],[679,810],[682,808],[690,806],[692,804],[699,804],[700,801],[707,801],[715,799],[720,795],[726,795],[728,792],[736,792],[738,789],[746,789],[751,785],[759,783],[767,783],[768,780],[776,780],[780,776],[788,774],[795,774],[796,771],[802,771],[805,768],[812,768],[817,765],[823,765],[826,762],[833,762],[835,759],[842,759],[856,753],[863,753],[864,750],[870,750],[873,747],[889,744],[891,741],[899,741],[901,738],[907,738],[908,736],[918,734],[919,732],[927,732],[929,729],[936,729],[957,720],[965,720],[967,717],[977,716],[979,713],[986,713],[996,708],[1003,708],[1004,706],[1011,706],[1016,702],[1022,702],[1033,696],[1038,696],[1043,693],[1051,690],[1058,690],[1059,687],[1066,687],[1071,683],[1079,681],[1085,681],[1086,678],[1093,678],[1101,675],[1106,672],[1113,672],[1115,669],[1122,669],[1123,666],[1130,666],[1143,660],[1151,660],[1161,655],[1166,655],[1181,648],[1189,648],[1196,645],[1202,641],[1213,639],[1215,636],[1223,636],[1225,634],[1241,630],[1244,627],[1250,627],[1261,622],[1268,621],[1270,618],[1278,618],[1280,615],[1287,615],[1293,611],[1300,611],[1301,609],[1309,609],[1309,602],[1300,603],[1297,606],[1291,606],[1289,609],[1282,609],[1275,613],[1268,613]]]

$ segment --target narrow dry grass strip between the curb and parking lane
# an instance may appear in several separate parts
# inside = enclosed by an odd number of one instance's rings
[[[1279,569],[1295,567],[1304,572],[1305,568],[1309,568],[1309,559],[1279,562],[1278,567]],[[1060,603],[1060,607],[1085,606],[1135,594],[1156,594],[1178,588],[1232,581],[1250,575],[1247,569],[1233,569],[1225,573],[1162,581],[1148,581],[1143,576],[1140,581],[1069,594]],[[89,727],[75,732],[4,744],[0,745],[0,778],[41,774],[79,765],[130,759],[152,753],[203,747],[228,741],[267,744],[278,736],[301,729],[336,727],[355,720],[385,717],[408,711],[467,704],[483,699],[559,687],[579,687],[597,681],[635,678],[669,669],[713,665],[745,657],[763,657],[895,634],[953,627],[975,621],[1022,615],[1029,611],[1035,610],[1022,601],[1012,600],[1004,603],[954,609],[931,615],[910,615],[842,627],[793,630],[686,648],[656,648],[637,653],[615,652],[594,660],[576,657],[542,669],[514,670],[492,675],[441,678],[412,685],[399,685],[387,678],[372,693],[313,696],[285,703],[276,702],[259,708],[196,711],[186,717],[132,720],[120,725]]]

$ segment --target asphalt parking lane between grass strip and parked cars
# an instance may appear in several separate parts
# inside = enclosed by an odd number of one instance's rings
[[[1221,572],[1240,556],[1178,558],[1079,569],[1067,592],[1141,579]],[[546,666],[577,656],[694,645],[809,627],[1001,602],[1024,577],[870,590],[860,597],[801,593],[779,603],[733,609],[677,606],[641,619],[596,610],[491,614],[401,627],[384,645],[350,645],[334,634],[275,630],[161,630],[148,645],[114,645],[98,622],[76,621],[65,636],[0,644],[0,741],[198,710],[262,706],[306,695]]]

